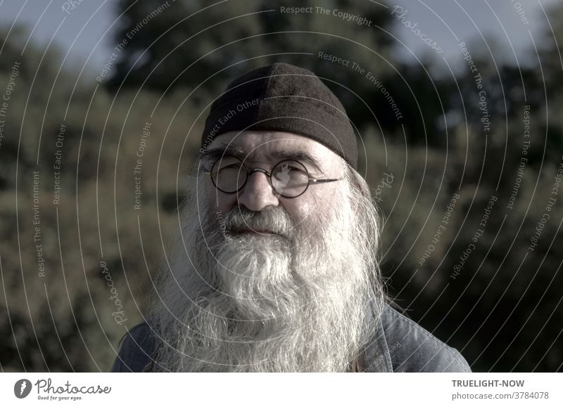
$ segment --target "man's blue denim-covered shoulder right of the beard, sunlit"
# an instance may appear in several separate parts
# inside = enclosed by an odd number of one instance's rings
[[[389,305],[381,325],[393,372],[471,372],[459,351]]]

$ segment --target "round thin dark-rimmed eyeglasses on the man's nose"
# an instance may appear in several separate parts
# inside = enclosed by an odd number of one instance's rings
[[[335,179],[315,179],[309,176],[305,165],[295,160],[283,160],[267,172],[263,168],[248,170],[246,165],[236,157],[222,157],[215,161],[210,172],[211,181],[215,188],[222,193],[237,193],[244,188],[248,177],[253,172],[266,174],[270,186],[284,198],[297,198],[303,195],[311,184],[341,181],[344,177]]]

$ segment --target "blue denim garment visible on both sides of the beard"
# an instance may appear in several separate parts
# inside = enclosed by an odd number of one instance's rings
[[[112,372],[142,372],[153,361],[155,339],[147,323],[124,337]],[[471,372],[453,347],[386,305],[377,332],[360,354],[363,372]]]

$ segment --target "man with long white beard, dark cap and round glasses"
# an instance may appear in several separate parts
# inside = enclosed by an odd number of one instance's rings
[[[386,301],[355,134],[315,74],[235,79],[200,153],[176,252],[113,371],[471,371]]]

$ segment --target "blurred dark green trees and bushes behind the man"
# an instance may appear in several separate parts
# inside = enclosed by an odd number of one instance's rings
[[[555,37],[545,31],[531,64],[497,64],[482,43],[467,44],[486,90],[486,132],[467,65],[452,75],[437,69],[443,61],[433,53],[419,63],[398,60],[389,10],[369,1],[326,3],[364,16],[372,27],[332,15],[261,12],[279,8],[265,0],[170,1],[146,20],[163,2],[119,1],[115,15],[123,15],[113,40],[127,44],[113,50],[101,80],[100,72],[69,69],[55,47],[27,44],[28,27],[9,35],[0,27],[0,93],[15,83],[0,144],[2,370],[110,369],[120,337],[142,320],[151,278],[177,233],[182,176],[198,150],[208,105],[232,77],[279,61],[324,78],[358,128],[362,173],[377,190],[384,219],[384,276],[407,314],[459,349],[475,371],[562,369],[563,196],[535,250],[529,245],[562,163],[563,7],[549,11]],[[319,51],[372,72],[402,118],[365,75],[317,58]],[[531,144],[508,209],[524,105]],[[134,166],[147,123],[135,209]],[[57,150],[61,199],[54,205]],[[393,175],[390,186],[381,186],[384,173]],[[454,194],[460,198],[433,242]],[[456,276],[493,195],[484,233]],[[116,323],[116,315],[127,321]]]

